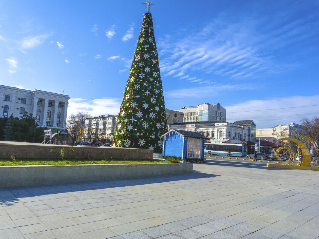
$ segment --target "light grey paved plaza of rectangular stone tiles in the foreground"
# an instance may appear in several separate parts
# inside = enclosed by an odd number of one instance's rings
[[[318,172],[265,166],[209,158],[189,174],[2,188],[0,238],[319,238]]]

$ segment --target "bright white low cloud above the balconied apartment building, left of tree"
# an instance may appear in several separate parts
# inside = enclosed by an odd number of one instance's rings
[[[84,98],[71,98],[68,105],[68,115],[77,112],[88,112],[92,116],[117,115],[122,104],[121,98],[99,98],[88,100]]]

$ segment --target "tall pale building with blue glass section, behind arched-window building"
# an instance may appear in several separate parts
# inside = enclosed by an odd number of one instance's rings
[[[197,121],[226,121],[226,109],[216,104],[198,104],[195,106],[185,106],[178,111],[184,114],[183,122]]]

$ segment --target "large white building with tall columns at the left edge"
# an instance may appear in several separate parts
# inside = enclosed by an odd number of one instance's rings
[[[19,118],[27,111],[43,127],[65,127],[69,99],[68,95],[0,85],[2,117]]]

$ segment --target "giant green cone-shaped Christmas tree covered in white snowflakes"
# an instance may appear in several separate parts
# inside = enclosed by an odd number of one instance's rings
[[[163,85],[152,14],[144,14],[141,32],[116,121],[113,147],[162,152],[160,136],[167,132]]]

